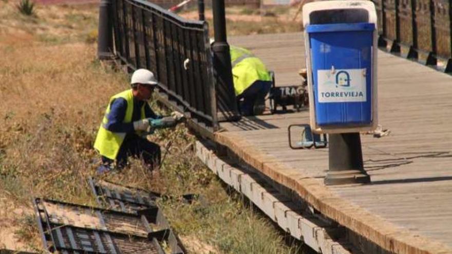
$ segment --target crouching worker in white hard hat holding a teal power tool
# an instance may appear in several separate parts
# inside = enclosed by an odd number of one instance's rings
[[[179,112],[163,118],[150,108],[147,101],[152,96],[157,80],[146,69],[136,70],[131,77],[131,89],[110,98],[97,134],[94,148],[99,151],[103,173],[114,168],[121,169],[128,157],[141,158],[149,169],[160,165],[160,146],[146,139],[154,128],[173,127],[183,117]]]

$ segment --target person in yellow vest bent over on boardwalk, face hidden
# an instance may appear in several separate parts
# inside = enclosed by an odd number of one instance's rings
[[[249,50],[230,46],[235,95],[242,115],[259,115],[265,110],[265,97],[272,78],[265,65]]]

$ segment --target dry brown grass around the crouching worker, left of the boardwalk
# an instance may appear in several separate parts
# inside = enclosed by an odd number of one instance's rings
[[[96,7],[37,6],[36,12],[18,16],[14,1],[0,1],[0,248],[39,251],[31,198],[95,205],[86,182],[98,158],[92,143],[109,96],[126,89],[128,77],[96,60]],[[131,160],[103,177],[170,195],[202,194],[207,205],[160,202],[175,230],[193,240],[186,243],[193,253],[297,251],[194,159],[195,138],[184,126],[152,140],[168,148],[160,174]]]

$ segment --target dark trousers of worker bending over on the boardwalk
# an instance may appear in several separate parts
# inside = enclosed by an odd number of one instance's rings
[[[256,105],[265,106],[265,96],[267,96],[272,83],[270,81],[255,81],[250,87],[237,95],[237,102],[242,115],[253,115],[253,108]],[[240,100],[243,99],[242,102]]]

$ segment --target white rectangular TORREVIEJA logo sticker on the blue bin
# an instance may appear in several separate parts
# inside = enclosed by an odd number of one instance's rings
[[[317,70],[317,100],[366,102],[366,69]]]

